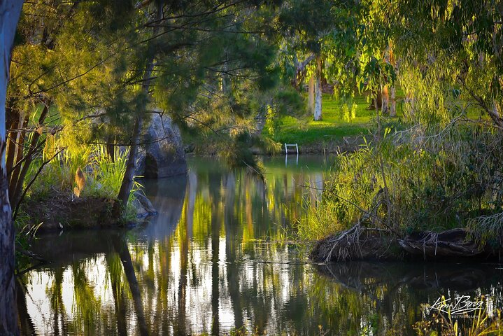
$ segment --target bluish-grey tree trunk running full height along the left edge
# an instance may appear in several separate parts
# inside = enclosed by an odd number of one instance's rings
[[[14,225],[8,200],[6,172],[6,94],[10,51],[22,0],[0,0],[0,335],[17,335],[14,281]]]

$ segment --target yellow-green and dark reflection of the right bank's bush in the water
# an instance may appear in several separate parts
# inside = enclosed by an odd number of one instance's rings
[[[423,304],[441,295],[490,295],[502,307],[502,272],[496,265],[416,262],[341,262],[319,265],[309,296],[337,334],[414,335]],[[325,300],[323,300],[325,299]],[[346,314],[336,314],[336,312]],[[471,323],[472,321],[467,321]]]

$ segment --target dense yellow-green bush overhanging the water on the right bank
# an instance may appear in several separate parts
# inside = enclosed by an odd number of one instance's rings
[[[503,134],[459,118],[446,127],[388,132],[337,158],[322,202],[299,225],[302,238],[320,239],[358,221],[399,234],[476,228],[488,221],[481,216],[502,212]]]

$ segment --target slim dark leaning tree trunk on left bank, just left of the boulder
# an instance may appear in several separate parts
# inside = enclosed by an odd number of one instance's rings
[[[159,25],[162,20],[162,6],[164,1],[159,1],[157,3],[157,20],[153,29],[153,36],[157,36],[159,34]],[[149,41],[148,45],[148,59],[147,65],[145,68],[145,72],[143,73],[143,80],[141,85],[141,90],[146,97],[148,97],[148,92],[150,90],[150,82],[152,81],[152,71],[154,69],[154,57],[155,57],[155,49],[153,46],[153,41]],[[129,200],[129,194],[131,193],[131,189],[133,187],[134,182],[134,171],[136,170],[136,154],[138,153],[138,147],[140,144],[140,134],[141,129],[143,127],[143,113],[147,109],[147,100],[145,102],[145,106],[143,106],[143,111],[136,116],[136,121],[134,123],[133,134],[131,137],[131,146],[129,147],[129,156],[127,157],[127,165],[126,172],[124,174],[124,178],[122,179],[122,184],[120,185],[118,200],[121,202],[122,209],[125,209],[127,206],[127,201]]]

